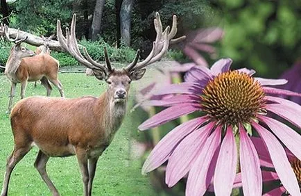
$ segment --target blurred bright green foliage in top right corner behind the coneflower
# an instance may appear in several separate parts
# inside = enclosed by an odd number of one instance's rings
[[[225,30],[220,54],[232,58],[234,67],[277,77],[300,57],[300,1],[218,0],[216,5]]]

